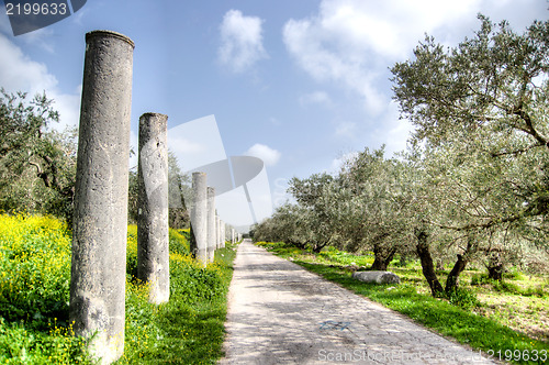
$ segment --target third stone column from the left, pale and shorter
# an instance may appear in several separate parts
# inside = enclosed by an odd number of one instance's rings
[[[208,264],[208,199],[205,173],[192,173],[191,252]]]

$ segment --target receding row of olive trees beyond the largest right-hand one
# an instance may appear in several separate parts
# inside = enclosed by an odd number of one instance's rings
[[[278,208],[255,228],[254,239],[284,241],[315,252],[326,246],[370,250],[378,265],[389,264],[396,251],[408,253],[413,242],[407,169],[405,163],[385,158],[384,147],[366,148],[338,175],[293,178],[289,191],[296,203]]]

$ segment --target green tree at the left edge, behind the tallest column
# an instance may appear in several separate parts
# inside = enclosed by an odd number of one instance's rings
[[[48,129],[58,121],[53,100],[0,89],[0,210],[54,214],[70,222],[76,131]]]

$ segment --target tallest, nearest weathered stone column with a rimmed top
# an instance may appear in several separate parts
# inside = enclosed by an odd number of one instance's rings
[[[97,332],[89,352],[102,364],[124,352],[133,49],[119,33],[86,34],[69,317],[76,335]]]

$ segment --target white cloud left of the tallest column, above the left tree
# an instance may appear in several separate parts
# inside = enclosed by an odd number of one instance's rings
[[[8,92],[24,91],[29,98],[46,92],[53,99],[53,108],[59,112],[60,122],[52,125],[57,130],[78,125],[80,115],[81,86],[74,93],[59,91],[57,78],[44,64],[32,60],[20,47],[0,33],[0,87]]]

